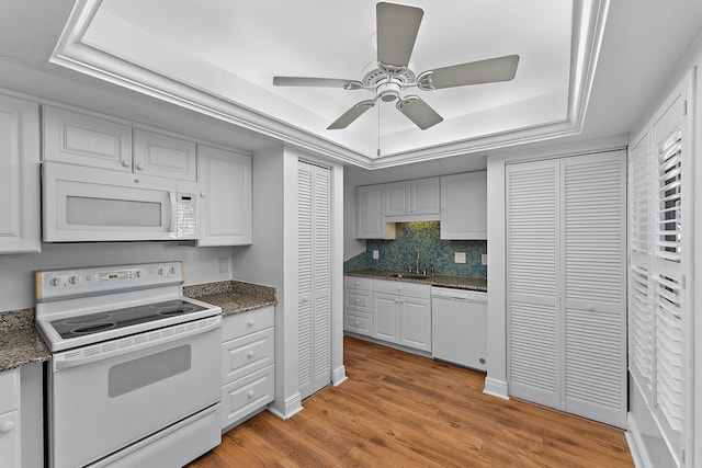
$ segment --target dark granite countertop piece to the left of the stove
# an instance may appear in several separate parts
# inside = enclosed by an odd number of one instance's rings
[[[0,312],[0,372],[52,357],[34,327],[34,310]]]

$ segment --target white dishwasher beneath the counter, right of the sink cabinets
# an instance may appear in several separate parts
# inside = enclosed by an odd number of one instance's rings
[[[431,354],[437,359],[487,369],[487,293],[431,288]]]

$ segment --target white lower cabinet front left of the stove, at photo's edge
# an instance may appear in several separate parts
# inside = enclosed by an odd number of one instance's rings
[[[21,464],[20,369],[0,373],[0,459],[7,468]]]

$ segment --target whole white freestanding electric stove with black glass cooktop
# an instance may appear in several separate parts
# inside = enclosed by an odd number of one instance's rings
[[[181,262],[35,273],[49,467],[182,466],[222,441],[222,309]]]

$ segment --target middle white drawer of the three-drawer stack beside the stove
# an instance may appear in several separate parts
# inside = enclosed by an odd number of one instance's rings
[[[274,329],[268,328],[222,344],[222,384],[273,364]]]

